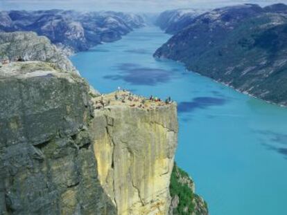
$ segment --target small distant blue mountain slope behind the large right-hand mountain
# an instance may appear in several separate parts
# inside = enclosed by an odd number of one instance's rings
[[[193,19],[205,10],[177,9],[162,12],[155,21],[155,25],[165,30],[168,34],[175,34],[189,26]]]

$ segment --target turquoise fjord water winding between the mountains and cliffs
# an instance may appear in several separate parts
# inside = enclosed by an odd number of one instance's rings
[[[141,28],[71,59],[102,93],[121,86],[178,102],[176,161],[195,180],[211,215],[287,214],[287,109],[154,59],[168,37]]]

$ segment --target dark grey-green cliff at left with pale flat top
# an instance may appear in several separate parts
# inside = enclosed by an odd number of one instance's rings
[[[89,86],[44,62],[0,68],[0,214],[116,214],[89,139]]]

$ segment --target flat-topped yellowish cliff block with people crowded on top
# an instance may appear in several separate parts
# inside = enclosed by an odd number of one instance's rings
[[[118,214],[167,214],[177,146],[176,106],[149,109],[148,104],[143,109],[127,103],[95,111],[93,140],[101,185]]]

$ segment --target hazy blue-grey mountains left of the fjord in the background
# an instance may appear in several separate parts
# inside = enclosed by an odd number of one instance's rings
[[[143,17],[123,12],[11,10],[0,12],[0,31],[34,31],[73,53],[121,39],[144,25]]]

